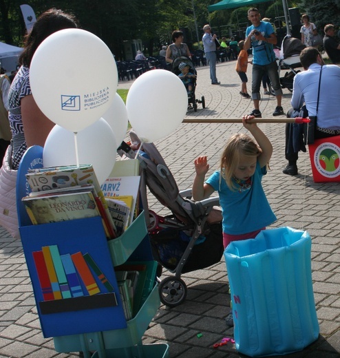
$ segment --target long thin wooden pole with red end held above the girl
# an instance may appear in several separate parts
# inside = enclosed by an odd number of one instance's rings
[[[308,118],[253,118],[248,123],[309,123]],[[242,123],[242,118],[185,117],[182,123]]]

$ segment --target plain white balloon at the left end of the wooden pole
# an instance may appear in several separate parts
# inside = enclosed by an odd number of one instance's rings
[[[187,90],[180,78],[167,70],[145,72],[127,94],[129,122],[145,143],[171,134],[182,123],[187,107]]]

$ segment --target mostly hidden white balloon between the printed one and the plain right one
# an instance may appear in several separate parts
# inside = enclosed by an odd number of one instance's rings
[[[127,134],[128,120],[127,107],[125,107],[125,103],[118,93],[116,93],[114,101],[102,117],[109,123],[114,131],[114,137],[119,147]]]

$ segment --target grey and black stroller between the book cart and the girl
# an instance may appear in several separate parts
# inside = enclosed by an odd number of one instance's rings
[[[140,145],[140,139],[130,131],[131,143]],[[136,154],[127,143],[118,148],[121,156],[134,158]],[[153,258],[174,275],[159,280],[160,301],[178,306],[187,297],[187,286],[180,278],[182,273],[195,271],[220,262],[224,252],[222,215],[217,207],[218,197],[201,202],[191,200],[191,190],[178,190],[176,181],[153,143],[143,143],[138,149],[140,161],[140,200],[145,211]],[[167,209],[161,216],[148,208],[147,187]]]

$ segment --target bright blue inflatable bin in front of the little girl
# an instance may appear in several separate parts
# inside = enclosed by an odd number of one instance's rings
[[[268,229],[224,251],[237,350],[250,357],[303,350],[319,337],[306,231]]]

